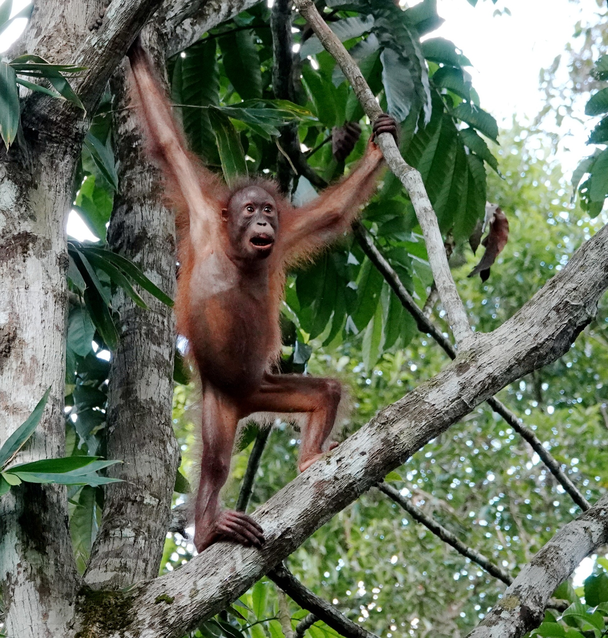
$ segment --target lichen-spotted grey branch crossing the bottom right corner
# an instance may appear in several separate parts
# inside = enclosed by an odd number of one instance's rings
[[[542,622],[556,587],[608,540],[608,496],[563,526],[525,565],[500,602],[468,638],[519,638]]]

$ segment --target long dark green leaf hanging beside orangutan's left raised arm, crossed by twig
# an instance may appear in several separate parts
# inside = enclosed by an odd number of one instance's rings
[[[219,104],[216,40],[203,40],[177,56],[172,76],[172,98],[177,104],[201,107]],[[219,165],[216,138],[204,108],[182,108],[184,133],[190,148],[208,163]]]

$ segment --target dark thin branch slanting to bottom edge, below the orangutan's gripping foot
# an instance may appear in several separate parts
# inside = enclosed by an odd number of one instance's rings
[[[353,623],[352,620],[346,618],[327,600],[323,600],[323,598],[318,597],[304,587],[282,563],[279,563],[268,572],[267,576],[285,591],[292,600],[297,602],[300,607],[308,609],[319,620],[322,620],[326,625],[335,629],[338,634],[345,636],[345,638],[378,638],[376,634],[371,634],[360,625],[357,625],[357,623]]]

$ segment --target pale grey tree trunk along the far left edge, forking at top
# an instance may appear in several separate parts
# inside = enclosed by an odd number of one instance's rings
[[[87,24],[96,1],[36,3],[17,45],[51,63],[88,66],[78,91],[94,108],[130,38],[160,0],[115,3],[107,26]],[[65,324],[68,303],[66,216],[75,162],[88,119],[40,93],[23,106],[29,145],[0,151],[0,441],[6,440],[51,386],[47,409],[16,461],[64,452]],[[20,638],[69,635],[80,579],[68,533],[66,492],[19,486],[0,502],[0,578],[6,632]]]

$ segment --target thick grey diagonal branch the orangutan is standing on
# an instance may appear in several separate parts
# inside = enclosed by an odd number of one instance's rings
[[[225,609],[429,440],[508,383],[567,352],[597,313],[606,288],[604,226],[475,350],[460,353],[437,376],[382,410],[259,507],[253,516],[264,530],[262,549],[219,542],[179,570],[135,586],[128,593],[128,618],[120,638],[180,638]],[[118,632],[108,636],[119,638]]]

